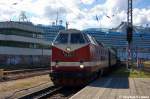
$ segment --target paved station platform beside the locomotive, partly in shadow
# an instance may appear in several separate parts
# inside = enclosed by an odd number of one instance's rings
[[[150,99],[150,78],[100,78],[70,99]]]

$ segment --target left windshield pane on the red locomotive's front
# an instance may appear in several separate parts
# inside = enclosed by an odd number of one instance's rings
[[[55,43],[58,44],[68,43],[68,34],[59,34],[58,37],[56,38]]]

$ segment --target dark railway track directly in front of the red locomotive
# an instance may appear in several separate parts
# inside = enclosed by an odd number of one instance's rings
[[[56,87],[49,86],[45,89],[29,93],[27,95],[18,97],[17,99],[68,99],[75,93],[77,93],[81,87]],[[13,96],[8,97],[11,99]]]

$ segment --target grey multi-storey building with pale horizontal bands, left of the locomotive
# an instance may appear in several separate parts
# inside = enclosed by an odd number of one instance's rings
[[[43,30],[30,22],[0,22],[0,67],[45,66],[50,63],[50,42]]]

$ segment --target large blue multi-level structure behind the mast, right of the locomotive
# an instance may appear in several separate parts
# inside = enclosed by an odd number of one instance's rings
[[[126,22],[122,22],[113,29],[89,28],[83,31],[94,36],[105,46],[116,48],[118,57],[121,60],[126,60],[128,45],[126,41],[126,27]],[[134,26],[132,53],[135,60],[137,55],[139,58],[150,60],[150,28]]]

